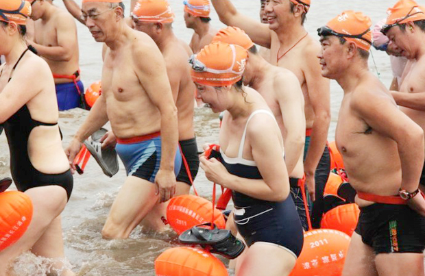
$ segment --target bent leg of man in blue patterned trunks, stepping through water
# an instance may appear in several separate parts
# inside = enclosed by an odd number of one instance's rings
[[[152,182],[134,176],[127,177],[112,203],[102,236],[110,239],[128,238],[157,204],[159,197],[155,193],[155,184]]]

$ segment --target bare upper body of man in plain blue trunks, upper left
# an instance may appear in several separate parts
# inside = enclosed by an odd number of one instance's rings
[[[34,41],[46,47],[63,47],[64,55],[60,58],[43,56],[53,74],[73,75],[79,69],[79,49],[77,26],[73,16],[51,5],[54,12],[48,20],[35,21]],[[70,79],[55,79],[56,84],[70,82]]]

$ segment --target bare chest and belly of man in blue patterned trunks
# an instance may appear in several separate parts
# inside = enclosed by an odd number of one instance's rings
[[[160,130],[160,112],[139,80],[136,60],[149,55],[163,66],[162,55],[147,34],[131,29],[127,36],[130,37],[119,49],[106,50],[101,79],[106,112],[118,138],[143,136]]]

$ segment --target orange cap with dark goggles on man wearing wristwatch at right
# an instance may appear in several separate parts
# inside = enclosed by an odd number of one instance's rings
[[[372,21],[362,12],[346,10],[329,21],[326,26],[317,29],[319,36],[339,36],[369,51],[372,46]]]

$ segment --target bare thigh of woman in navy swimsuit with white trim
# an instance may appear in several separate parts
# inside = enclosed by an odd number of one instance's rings
[[[295,255],[274,244],[256,242],[248,249],[236,276],[287,276],[295,266]]]

